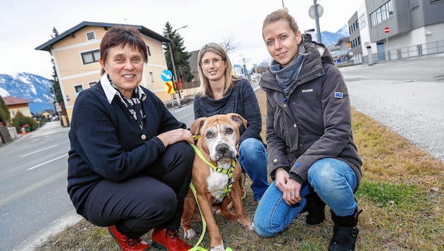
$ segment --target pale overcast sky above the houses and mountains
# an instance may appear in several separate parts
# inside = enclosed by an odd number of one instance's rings
[[[319,18],[322,31],[337,32],[347,24],[364,0],[317,0],[323,7]],[[166,22],[178,30],[186,51],[204,44],[237,44],[230,59],[247,68],[270,59],[261,28],[264,18],[278,8],[288,8],[300,30],[316,28],[309,17],[313,0],[1,0],[0,74],[33,73],[51,79],[51,56],[35,48],[83,21],[142,25],[163,34]],[[240,56],[242,55],[242,56]]]

